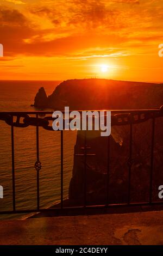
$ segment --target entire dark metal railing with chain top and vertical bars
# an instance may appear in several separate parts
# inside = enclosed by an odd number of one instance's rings
[[[100,111],[100,110],[99,110]],[[82,112],[82,111],[79,111]],[[64,114],[64,111],[62,111]],[[28,111],[28,112],[0,112],[0,120],[5,121],[8,125],[11,126],[11,162],[12,162],[12,210],[11,211],[0,211],[0,214],[15,214],[15,213],[27,213],[27,212],[44,212],[49,211],[49,209],[40,208],[40,169],[41,162],[39,157],[39,127],[43,127],[43,129],[48,131],[53,131],[52,128],[52,111]],[[30,115],[34,115],[31,117]],[[47,116],[46,116],[47,115]],[[42,116],[42,117],[40,117]],[[122,126],[129,125],[130,129],[130,140],[129,140],[129,159],[128,159],[128,198],[127,203],[122,205],[149,205],[149,204],[160,204],[162,202],[153,202],[152,201],[152,193],[153,193],[153,157],[154,157],[154,137],[155,137],[155,119],[158,117],[163,117],[163,107],[160,109],[127,109],[127,110],[112,110],[111,111],[111,126]],[[133,125],[145,122],[149,119],[152,119],[152,138],[151,138],[151,170],[150,170],[150,178],[149,178],[149,202],[140,202],[140,203],[131,203],[130,202],[130,192],[131,192],[131,167],[133,164]],[[37,182],[37,207],[36,209],[29,210],[16,210],[16,197],[15,197],[15,154],[14,154],[14,127],[25,128],[28,126],[36,127],[36,182]],[[1,126],[0,126],[1,127]],[[56,131],[57,132],[57,131]],[[60,132],[60,206],[59,210],[64,209],[64,133]],[[84,138],[84,175],[85,175],[85,184],[84,184],[84,203],[83,208],[87,208],[89,206],[86,205],[86,132]],[[110,136],[108,137],[108,167],[107,167],[107,179],[106,179],[106,202],[103,206],[108,207],[111,205],[121,205],[121,204],[110,204],[109,203],[109,180],[110,180]],[[98,205],[94,205],[93,207],[98,207]],[[68,208],[68,207],[66,207]],[[72,207],[71,207],[72,208]],[[56,209],[51,209],[52,211]]]

